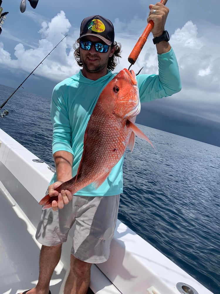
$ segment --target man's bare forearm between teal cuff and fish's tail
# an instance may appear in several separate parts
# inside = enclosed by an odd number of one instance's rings
[[[53,154],[56,165],[57,181],[68,181],[72,178],[73,155],[67,151],[57,151]]]

